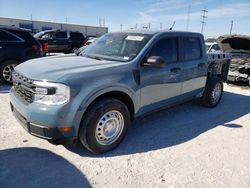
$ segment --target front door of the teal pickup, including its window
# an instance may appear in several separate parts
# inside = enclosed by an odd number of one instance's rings
[[[166,106],[178,100],[182,88],[183,63],[179,61],[178,38],[164,37],[150,50],[150,56],[160,56],[165,66],[141,66],[141,113]],[[145,58],[145,59],[147,59]]]

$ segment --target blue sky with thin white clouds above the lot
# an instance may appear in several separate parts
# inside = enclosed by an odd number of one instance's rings
[[[203,34],[250,35],[250,0],[0,0],[0,17],[99,26],[105,17],[109,31],[148,28],[201,32],[202,10],[207,10]],[[121,26],[122,24],[122,26]]]

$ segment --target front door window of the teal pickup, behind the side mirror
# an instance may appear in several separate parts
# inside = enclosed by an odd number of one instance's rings
[[[150,56],[160,56],[167,63],[176,62],[178,57],[177,37],[164,38],[159,40],[151,49]]]

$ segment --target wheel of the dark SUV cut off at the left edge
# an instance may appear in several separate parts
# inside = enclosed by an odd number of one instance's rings
[[[7,60],[0,64],[0,79],[3,83],[11,85],[12,84],[12,71],[16,65],[20,64],[16,60]]]

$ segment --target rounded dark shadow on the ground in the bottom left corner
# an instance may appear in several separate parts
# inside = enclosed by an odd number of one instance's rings
[[[0,150],[0,187],[91,187],[64,158],[38,148]]]

